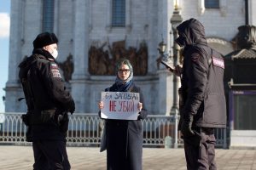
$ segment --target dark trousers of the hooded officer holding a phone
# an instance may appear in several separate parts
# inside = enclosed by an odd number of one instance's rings
[[[184,138],[188,170],[216,170],[213,128],[199,127],[195,136]]]

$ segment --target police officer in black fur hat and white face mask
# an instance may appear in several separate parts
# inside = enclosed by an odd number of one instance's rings
[[[54,33],[39,34],[33,41],[32,55],[19,65],[28,110],[22,118],[29,129],[35,170],[70,169],[66,150],[67,112],[73,113],[75,104],[55,61],[57,43]]]

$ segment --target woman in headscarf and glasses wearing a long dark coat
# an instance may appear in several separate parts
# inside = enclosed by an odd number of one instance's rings
[[[138,116],[137,120],[106,118],[107,170],[142,170],[143,129],[140,120],[148,116],[143,107],[143,94],[132,81],[133,70],[128,59],[121,59],[117,63],[116,76],[114,84],[105,91],[138,93],[139,102],[136,108]],[[102,110],[109,104],[104,105],[101,101],[98,106],[101,109],[99,115],[103,117]]]

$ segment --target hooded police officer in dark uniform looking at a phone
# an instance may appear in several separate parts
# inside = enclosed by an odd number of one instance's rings
[[[190,19],[177,26],[176,42],[183,47],[179,129],[187,168],[217,169],[213,129],[226,127],[224,59],[207,45],[204,26]]]

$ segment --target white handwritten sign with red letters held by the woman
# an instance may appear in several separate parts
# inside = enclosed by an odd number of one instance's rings
[[[101,116],[103,119],[137,120],[139,101],[139,93],[102,92]]]

